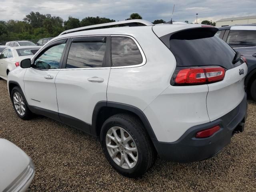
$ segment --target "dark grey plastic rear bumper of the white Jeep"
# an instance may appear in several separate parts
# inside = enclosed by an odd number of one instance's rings
[[[228,114],[212,122],[188,129],[175,142],[152,140],[160,158],[174,162],[189,163],[210,158],[230,143],[234,130],[247,117],[246,94],[242,102]],[[195,138],[198,131],[219,125],[220,130],[208,138]]]

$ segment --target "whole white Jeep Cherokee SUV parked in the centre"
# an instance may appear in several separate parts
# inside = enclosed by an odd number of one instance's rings
[[[67,30],[8,75],[14,110],[100,138],[128,177],[144,174],[157,154],[210,158],[242,132],[247,109],[247,65],[217,31],[145,20]]]

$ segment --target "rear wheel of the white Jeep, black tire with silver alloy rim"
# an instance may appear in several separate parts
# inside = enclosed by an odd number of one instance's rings
[[[110,164],[130,178],[147,172],[156,155],[152,142],[138,118],[116,114],[102,125],[100,141]]]

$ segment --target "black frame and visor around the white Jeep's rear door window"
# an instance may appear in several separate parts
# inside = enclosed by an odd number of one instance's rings
[[[95,39],[92,39],[95,38]],[[103,40],[106,39],[106,40]],[[92,68],[66,68],[68,53],[72,42],[106,42],[106,62],[105,66],[102,67],[92,67]],[[92,70],[92,69],[110,69],[110,35],[97,35],[97,36],[73,36],[70,37],[68,46],[65,52],[65,56],[62,62],[61,70]]]

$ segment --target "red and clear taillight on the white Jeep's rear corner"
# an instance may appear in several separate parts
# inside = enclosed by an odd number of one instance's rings
[[[183,68],[176,74],[175,85],[207,84],[223,80],[225,69],[222,67]]]

